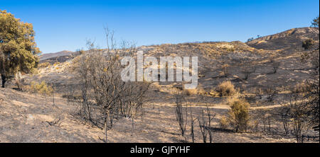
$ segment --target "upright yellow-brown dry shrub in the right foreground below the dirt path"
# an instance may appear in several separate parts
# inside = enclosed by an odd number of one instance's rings
[[[230,105],[228,111],[228,122],[235,132],[247,131],[250,120],[249,107],[250,104],[245,100],[235,100]]]

